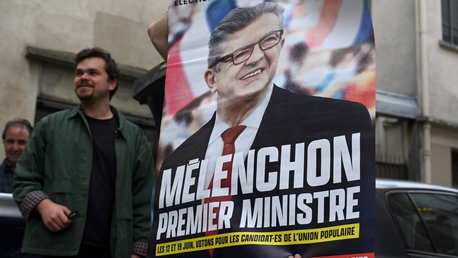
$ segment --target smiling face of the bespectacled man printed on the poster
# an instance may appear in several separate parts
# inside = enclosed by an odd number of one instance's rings
[[[279,29],[278,17],[275,14],[263,14],[248,27],[227,37],[226,49],[222,56],[256,43],[267,34]],[[261,50],[256,44],[251,56],[245,62],[237,65],[234,65],[230,58],[220,62],[221,70],[214,73],[218,103],[231,101],[231,99],[240,100],[240,98],[249,102],[260,95],[263,98],[277,70],[278,57],[283,44],[284,40],[281,40],[280,43],[267,50]]]

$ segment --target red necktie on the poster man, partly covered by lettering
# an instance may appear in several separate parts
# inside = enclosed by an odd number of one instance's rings
[[[236,127],[228,128],[221,134],[221,138],[223,138],[223,142],[224,142],[222,156],[232,154],[231,161],[223,163],[222,170],[223,171],[226,170],[228,172],[227,177],[225,179],[221,179],[221,188],[229,188],[229,195],[213,196],[213,197],[205,198],[204,203],[219,202],[218,207],[213,209],[213,212],[216,213],[216,218],[213,219],[212,224],[218,224],[219,207],[221,206],[221,202],[230,201],[232,197],[230,195],[230,186],[231,186],[231,176],[232,176],[232,161],[234,160],[234,153],[235,153],[234,142],[237,139],[237,137],[239,137],[239,135],[243,132],[243,130],[245,130],[245,128],[246,128],[245,125],[239,125]],[[214,175],[212,177],[212,180],[210,181],[210,185],[208,185],[208,189],[210,189],[210,193],[213,193],[213,178],[214,178]],[[218,229],[205,232],[205,236],[213,236],[216,234],[218,234]],[[213,248],[209,249],[208,251],[210,252],[210,257],[213,257]]]

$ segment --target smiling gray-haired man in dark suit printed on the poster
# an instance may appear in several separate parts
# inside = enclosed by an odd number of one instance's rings
[[[162,163],[148,256],[373,257],[370,115],[273,83],[283,14],[236,8],[210,35],[217,110]]]

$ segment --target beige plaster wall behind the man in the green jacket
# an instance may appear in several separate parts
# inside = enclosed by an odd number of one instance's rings
[[[27,46],[73,53],[99,46],[118,63],[149,70],[163,60],[147,36],[147,26],[165,11],[165,0],[1,0],[0,128],[15,117],[34,118],[43,67],[26,59]],[[68,91],[71,74],[63,77],[56,81],[60,88],[55,90],[67,90],[68,98],[75,100]],[[114,105],[140,107],[131,99],[131,89],[120,89],[117,95]],[[145,110],[138,108],[138,115]]]

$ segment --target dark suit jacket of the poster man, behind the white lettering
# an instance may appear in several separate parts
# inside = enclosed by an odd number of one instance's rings
[[[162,174],[164,169],[172,168],[172,180],[174,171],[177,167],[187,164],[190,160],[199,158],[203,160],[207,151],[208,141],[215,123],[215,115],[213,118],[199,129],[194,135],[191,135],[183,144],[181,144],[172,154],[164,160],[162,168],[158,175],[156,194],[154,197],[154,221],[150,233],[150,241],[148,244],[148,257],[153,257],[155,246],[157,243],[178,241],[191,239],[195,237],[205,236],[205,234],[194,234],[182,237],[167,239],[166,241],[156,241],[158,230],[158,214],[169,210],[178,210],[191,206],[202,204],[202,200],[196,200],[194,203],[188,202],[168,208],[158,209],[158,198],[160,192],[160,184],[162,182]],[[252,199],[265,196],[283,196],[289,194],[300,194],[304,192],[313,193],[317,191],[329,190],[331,183],[324,186],[311,187],[306,182],[307,168],[307,146],[313,140],[327,139],[331,143],[331,153],[333,137],[345,135],[347,144],[351,153],[351,135],[353,133],[361,133],[360,135],[360,171],[361,179],[347,182],[345,175],[342,175],[342,183],[331,185],[333,189],[347,188],[350,186],[360,185],[360,193],[354,195],[358,199],[358,205],[354,211],[360,212],[359,219],[347,219],[343,221],[316,223],[316,217],[312,219],[310,224],[268,227],[268,228],[239,228],[240,212],[237,209],[242,207],[243,199]],[[294,177],[290,173],[290,189],[279,190],[278,184],[273,191],[259,192],[256,186],[253,187],[254,192],[251,194],[240,194],[232,196],[231,201],[234,202],[234,216],[231,219],[231,228],[222,229],[218,234],[228,232],[274,232],[283,230],[298,230],[298,229],[315,229],[327,226],[336,226],[341,224],[360,223],[360,238],[356,240],[342,240],[333,242],[322,242],[314,244],[302,245],[240,245],[234,247],[215,248],[213,258],[220,257],[288,257],[295,253],[299,253],[302,257],[318,257],[331,256],[341,254],[356,254],[373,252],[373,199],[375,189],[375,137],[374,130],[371,126],[371,118],[367,109],[360,103],[351,101],[335,100],[330,98],[322,98],[315,96],[299,95],[289,92],[274,86],[273,93],[267,109],[262,117],[262,122],[257,131],[256,137],[251,146],[251,150],[256,150],[263,147],[275,146],[278,151],[281,151],[282,145],[291,144],[291,161],[294,160],[294,146],[297,143],[305,143],[305,166],[304,166],[304,188],[293,189],[292,184]],[[255,154],[256,157],[256,154]],[[320,155],[318,155],[318,159]],[[280,153],[278,160],[280,159]],[[331,163],[333,158],[331,157]],[[255,161],[256,164],[256,161]],[[317,171],[320,171],[320,162],[317,161]],[[246,160],[245,160],[246,165]],[[333,165],[331,164],[331,179]],[[209,168],[210,169],[210,168]],[[256,166],[255,166],[256,169]],[[190,192],[196,192],[198,169],[194,170],[192,177],[196,178],[196,184],[191,186]],[[266,173],[272,171],[280,171],[280,162],[266,163]],[[344,173],[344,169],[342,169]],[[256,177],[256,170],[255,170]],[[279,173],[278,173],[279,180]],[[255,179],[256,182],[256,179]],[[280,197],[281,199],[281,197]],[[317,209],[316,200],[313,204],[308,204],[314,211]],[[329,213],[329,207],[325,209],[325,217]],[[314,212],[316,216],[316,212]],[[166,257],[210,257],[208,250],[185,252],[178,255],[170,255]]]

